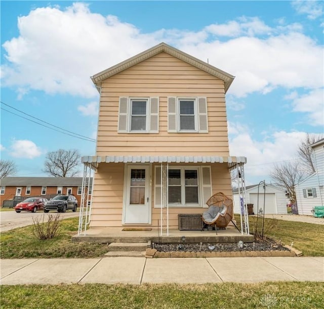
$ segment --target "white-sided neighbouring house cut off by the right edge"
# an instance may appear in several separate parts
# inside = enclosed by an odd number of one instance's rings
[[[324,206],[324,139],[310,145],[315,173],[296,186],[299,215],[312,215],[315,206]]]

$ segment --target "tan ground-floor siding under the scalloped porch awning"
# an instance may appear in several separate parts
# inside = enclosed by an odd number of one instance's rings
[[[156,164],[159,165],[159,164]],[[181,164],[170,164],[181,165]],[[231,180],[227,163],[215,164],[190,164],[211,166],[213,194],[223,192],[232,196]],[[154,166],[152,167],[151,200],[154,201]],[[95,173],[95,188],[93,192],[92,216],[90,227],[120,227],[123,216],[123,191],[124,191],[124,163],[100,163]],[[178,228],[178,214],[202,214],[206,208],[169,208],[169,227]],[[163,209],[166,226],[166,209]],[[152,228],[160,226],[160,209],[152,205]],[[136,224],[132,225],[136,226]]]

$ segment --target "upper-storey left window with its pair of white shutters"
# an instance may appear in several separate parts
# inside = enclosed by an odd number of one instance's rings
[[[158,133],[158,97],[120,97],[119,133]]]

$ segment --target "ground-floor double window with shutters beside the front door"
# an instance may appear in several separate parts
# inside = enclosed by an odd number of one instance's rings
[[[166,174],[166,170],[164,171]],[[163,191],[168,189],[169,207],[208,207],[206,201],[212,195],[210,166],[169,166],[168,180],[161,179],[161,167],[155,166],[154,207],[160,208]],[[161,183],[168,188],[161,188]]]

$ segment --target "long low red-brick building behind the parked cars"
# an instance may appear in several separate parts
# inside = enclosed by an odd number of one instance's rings
[[[0,180],[0,186],[1,205],[15,196],[53,197],[58,194],[73,194],[80,205],[82,177],[5,177]]]

